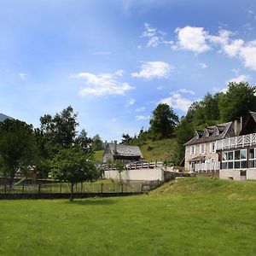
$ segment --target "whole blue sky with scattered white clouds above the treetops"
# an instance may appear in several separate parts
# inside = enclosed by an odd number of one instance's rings
[[[160,102],[255,84],[255,29],[253,0],[2,0],[0,113],[38,127],[72,105],[90,136],[133,136]]]

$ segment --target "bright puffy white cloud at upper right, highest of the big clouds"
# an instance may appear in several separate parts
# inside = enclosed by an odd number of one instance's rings
[[[185,26],[177,28],[178,42],[182,49],[192,50],[195,53],[205,52],[211,47],[207,44],[207,34],[203,27]]]

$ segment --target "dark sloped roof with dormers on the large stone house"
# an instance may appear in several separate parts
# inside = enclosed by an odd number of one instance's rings
[[[216,140],[223,139],[224,137],[233,137],[235,136],[233,122],[228,122],[224,124],[219,125],[212,125],[208,126],[206,129],[209,131],[214,131],[211,135],[206,136],[206,134],[203,134],[201,137],[197,138],[196,135],[191,140],[189,140],[188,143],[185,143],[184,145],[194,145],[198,143],[208,143],[208,142],[214,142]],[[218,131],[218,132],[217,132]]]

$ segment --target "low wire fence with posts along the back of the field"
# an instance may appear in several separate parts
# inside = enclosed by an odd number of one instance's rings
[[[139,193],[156,188],[160,181],[130,183],[76,183],[73,193]],[[9,187],[0,185],[0,194],[68,194],[70,183],[35,183]]]

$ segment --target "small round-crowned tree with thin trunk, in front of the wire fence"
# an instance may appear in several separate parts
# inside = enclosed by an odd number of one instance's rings
[[[81,148],[63,148],[52,161],[53,177],[56,180],[71,183],[73,201],[73,185],[84,181],[93,181],[100,177],[100,172],[93,165],[90,155],[84,154]]]

